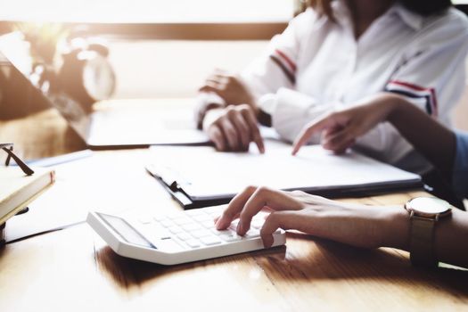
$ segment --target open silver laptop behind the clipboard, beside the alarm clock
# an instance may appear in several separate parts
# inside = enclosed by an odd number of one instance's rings
[[[94,111],[86,112],[69,94],[44,90],[32,78],[28,45],[21,33],[0,37],[0,52],[45,103],[60,112],[90,149],[209,144],[208,136],[196,128],[193,110],[186,102],[113,100],[97,103]]]

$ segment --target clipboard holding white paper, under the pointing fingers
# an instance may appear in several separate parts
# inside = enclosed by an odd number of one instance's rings
[[[335,155],[319,145],[297,156],[291,144],[266,140],[265,154],[216,152],[209,146],[152,147],[147,170],[185,209],[230,201],[248,185],[301,190],[329,197],[421,187],[421,177],[358,152]]]

